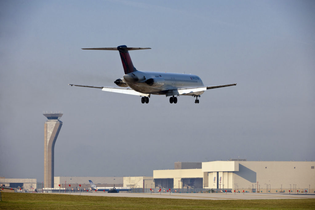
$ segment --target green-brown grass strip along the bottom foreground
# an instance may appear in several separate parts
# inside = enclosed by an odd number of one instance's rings
[[[0,209],[315,209],[315,199],[191,200],[2,193]]]

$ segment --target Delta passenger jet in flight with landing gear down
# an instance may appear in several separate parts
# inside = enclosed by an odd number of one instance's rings
[[[100,88],[103,91],[124,93],[131,95],[139,95],[141,103],[149,103],[151,95],[165,95],[170,96],[169,102],[177,103],[179,95],[190,95],[195,99],[195,103],[199,103],[198,97],[204,91],[214,88],[223,88],[236,85],[217,85],[204,86],[202,80],[197,75],[181,74],[181,73],[167,73],[167,72],[152,72],[152,71],[138,71],[133,65],[129,51],[151,48],[129,48],[126,45],[118,46],[117,48],[82,48],[86,50],[118,50],[123,64],[125,74],[123,78],[117,79],[114,83],[119,87],[103,87],[103,86],[89,86],[69,84],[71,86]]]

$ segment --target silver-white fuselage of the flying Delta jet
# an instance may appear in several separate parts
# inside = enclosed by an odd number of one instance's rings
[[[134,71],[123,76],[126,84],[140,93],[146,94],[166,94],[168,90],[176,88],[195,88],[203,87],[203,82],[197,75],[152,72],[152,71]],[[148,84],[149,79],[154,83]],[[150,81],[150,80],[149,80]],[[192,95],[200,95],[204,91]]]

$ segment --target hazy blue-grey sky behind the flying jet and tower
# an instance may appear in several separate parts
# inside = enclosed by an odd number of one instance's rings
[[[63,111],[55,176],[152,176],[174,162],[315,161],[314,1],[0,1],[0,176],[43,180],[43,111]],[[195,104],[112,86],[116,51],[192,73]]]

